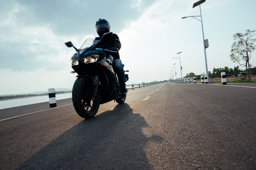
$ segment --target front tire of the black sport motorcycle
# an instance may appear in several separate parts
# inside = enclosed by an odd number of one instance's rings
[[[72,89],[72,101],[76,113],[89,119],[96,115],[100,105],[100,95],[93,96],[94,86],[90,77],[78,77]]]

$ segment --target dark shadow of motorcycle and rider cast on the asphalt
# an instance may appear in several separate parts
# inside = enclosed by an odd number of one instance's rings
[[[126,103],[83,120],[54,139],[18,169],[150,169],[141,131],[148,124]]]

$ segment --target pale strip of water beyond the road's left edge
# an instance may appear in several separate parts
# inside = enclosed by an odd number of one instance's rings
[[[66,94],[56,94],[56,100],[61,100],[65,98],[72,98],[72,93]],[[18,98],[13,100],[0,101],[0,109],[6,109],[10,107],[17,107],[23,105],[31,105],[35,103],[49,102],[49,96],[36,96],[28,98]]]

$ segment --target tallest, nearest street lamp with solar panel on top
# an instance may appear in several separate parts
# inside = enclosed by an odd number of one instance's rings
[[[200,0],[200,1],[195,2],[193,4],[192,8],[197,7],[199,5],[199,7],[200,7],[200,15],[199,16],[188,16],[188,17],[193,17],[193,18],[195,18],[196,20],[198,20],[202,23],[203,43],[204,43],[204,59],[205,59],[205,68],[206,68],[206,76],[207,76],[207,81],[205,83],[208,83],[209,82],[209,75],[208,75],[207,58],[206,58],[206,50],[205,50],[208,47],[208,39],[204,40],[204,28],[203,28],[203,20],[202,20],[202,12],[201,12],[201,4],[204,3],[204,2],[205,2],[205,0]],[[199,20],[196,17],[201,17],[201,20]],[[187,17],[182,17],[182,19],[184,19],[184,18],[187,18]]]

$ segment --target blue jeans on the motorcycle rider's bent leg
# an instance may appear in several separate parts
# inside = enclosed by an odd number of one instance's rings
[[[125,85],[124,67],[120,59],[113,59],[113,69],[117,74],[119,85]]]

